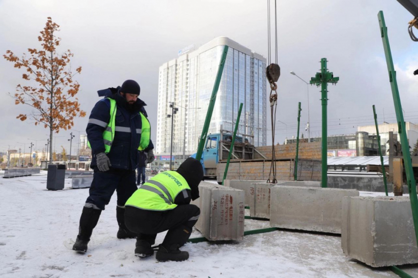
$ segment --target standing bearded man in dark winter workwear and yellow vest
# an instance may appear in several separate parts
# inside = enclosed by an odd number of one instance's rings
[[[139,151],[154,160],[150,140],[150,124],[144,101],[138,98],[140,87],[126,80],[122,87],[98,92],[106,97],[96,103],[91,111],[86,132],[91,148],[91,168],[94,170],[87,198],[80,217],[80,226],[73,250],[86,252],[91,233],[97,225],[105,205],[117,192],[116,218],[119,224],[118,239],[135,238],[137,234],[125,226],[125,202],[137,189],[135,169]]]

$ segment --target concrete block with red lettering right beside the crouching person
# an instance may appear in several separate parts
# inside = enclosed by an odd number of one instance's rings
[[[192,204],[200,208],[195,227],[209,241],[242,240],[244,236],[244,191],[201,182],[200,198]]]

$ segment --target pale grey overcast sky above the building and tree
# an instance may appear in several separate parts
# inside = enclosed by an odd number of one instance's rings
[[[299,101],[300,130],[307,137],[306,84],[289,72],[309,81],[319,71],[321,58],[328,59],[328,68],[340,78],[336,86],[328,87],[328,134],[354,133],[358,125],[373,124],[373,104],[380,122],[383,112],[386,122],[395,121],[379,10],[385,13],[405,119],[418,122],[418,76],[413,75],[418,68],[418,44],[407,33],[413,16],[396,0],[278,1],[277,119],[287,124],[287,134],[285,124],[278,122],[276,143],[281,144],[286,135],[296,137]],[[37,36],[47,17],[60,25],[58,51],[70,49],[72,67],[83,67],[75,80],[81,85],[77,96],[87,116],[76,119],[73,128],[81,134],[99,100],[97,90],[117,87],[126,79],[140,84],[140,98],[148,104],[149,120],[156,130],[158,67],[177,58],[185,46],[199,47],[227,36],[268,56],[267,0],[0,0],[1,55],[12,50],[21,56],[28,48],[40,48]],[[48,129],[16,119],[21,113],[30,114],[29,106],[15,105],[8,96],[16,85],[25,84],[22,73],[11,62],[0,60],[0,151],[8,145],[23,151],[20,143],[43,140],[37,142],[40,149],[48,138]],[[309,86],[311,137],[321,135],[320,98],[320,88]],[[268,119],[268,144],[270,130]],[[57,134],[63,136],[56,138],[57,151],[63,145],[68,152],[70,132]],[[79,132],[73,134],[77,138]],[[155,132],[151,138],[155,142]]]

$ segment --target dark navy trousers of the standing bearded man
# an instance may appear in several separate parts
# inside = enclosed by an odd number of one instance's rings
[[[89,190],[90,196],[86,203],[92,203],[104,210],[116,189],[117,204],[119,207],[123,207],[129,197],[138,189],[135,180],[135,171],[132,170],[110,168],[109,171],[100,172],[96,168]]]

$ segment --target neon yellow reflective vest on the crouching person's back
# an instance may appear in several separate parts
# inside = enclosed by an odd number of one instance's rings
[[[125,206],[132,206],[149,211],[167,211],[177,207],[174,200],[178,194],[184,194],[190,187],[176,171],[166,171],[151,178],[141,185],[126,201]]]

